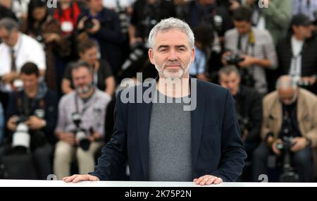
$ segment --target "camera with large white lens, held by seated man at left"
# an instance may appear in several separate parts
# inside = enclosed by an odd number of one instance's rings
[[[28,118],[28,116],[18,116],[15,121],[18,126],[12,136],[12,147],[21,152],[26,152],[26,150],[30,148],[31,136],[29,127],[25,123]]]

